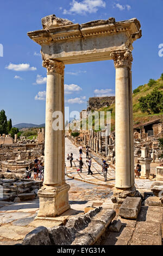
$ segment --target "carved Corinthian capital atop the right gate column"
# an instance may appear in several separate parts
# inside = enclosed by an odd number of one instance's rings
[[[118,50],[111,52],[110,57],[114,60],[115,68],[127,66],[131,69],[133,56],[130,50]]]

